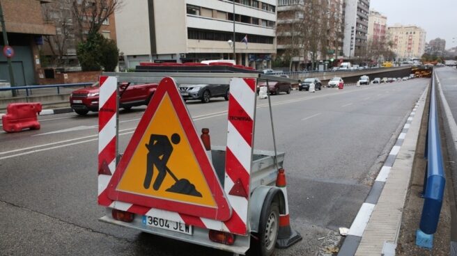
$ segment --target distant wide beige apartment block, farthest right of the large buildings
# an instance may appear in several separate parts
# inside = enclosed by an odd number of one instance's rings
[[[410,61],[412,58],[421,58],[425,51],[426,31],[419,26],[395,24],[389,26],[388,34],[394,43],[392,51],[397,61]]]

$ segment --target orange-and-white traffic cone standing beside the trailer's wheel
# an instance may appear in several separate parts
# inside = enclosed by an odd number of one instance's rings
[[[281,189],[282,193],[284,193],[284,202],[286,204],[285,214],[279,214],[279,232],[276,247],[288,248],[294,243],[297,243],[297,241],[301,241],[302,235],[291,228],[289,205],[287,200],[286,174],[284,173],[284,168],[279,168],[276,186]]]

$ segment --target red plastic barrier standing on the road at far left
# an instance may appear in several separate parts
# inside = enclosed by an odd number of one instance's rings
[[[41,112],[41,103],[12,103],[6,106],[6,115],[1,117],[3,131],[17,132],[24,128],[40,129],[37,114]]]

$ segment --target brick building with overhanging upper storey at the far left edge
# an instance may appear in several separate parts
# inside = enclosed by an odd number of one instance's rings
[[[11,57],[16,86],[36,84],[41,67],[39,45],[43,35],[55,35],[56,28],[45,22],[39,11],[43,0],[1,0],[1,8],[5,19],[8,43],[15,54]],[[37,11],[38,10],[38,11]],[[1,31],[1,26],[0,26]],[[0,48],[5,42],[0,37]],[[0,54],[0,80],[11,81],[7,59]]]

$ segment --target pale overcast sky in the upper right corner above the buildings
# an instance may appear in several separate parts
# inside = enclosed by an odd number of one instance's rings
[[[387,16],[387,26],[417,25],[426,42],[444,38],[446,49],[457,46],[457,0],[371,0],[370,9]]]

